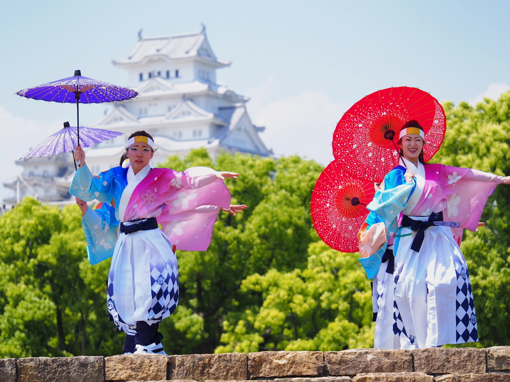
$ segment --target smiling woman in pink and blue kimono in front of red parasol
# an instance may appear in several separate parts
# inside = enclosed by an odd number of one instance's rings
[[[510,177],[426,164],[424,131],[415,120],[402,127],[398,145],[400,165],[367,208],[396,233],[394,330],[400,348],[478,341],[469,272],[451,227],[475,231],[494,188],[510,184]]]

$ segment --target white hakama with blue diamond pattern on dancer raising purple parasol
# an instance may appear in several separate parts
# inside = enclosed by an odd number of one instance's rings
[[[177,258],[163,231],[121,233],[108,275],[107,306],[117,327],[127,332],[137,321],[158,323],[178,300]]]

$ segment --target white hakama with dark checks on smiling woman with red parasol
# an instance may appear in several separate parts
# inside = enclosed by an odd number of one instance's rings
[[[428,216],[410,217],[428,220]],[[399,234],[411,232],[402,228]],[[401,330],[400,348],[478,341],[468,268],[451,228],[427,228],[420,252],[411,250],[414,236],[395,240],[395,303],[401,317],[401,321],[397,320]]]

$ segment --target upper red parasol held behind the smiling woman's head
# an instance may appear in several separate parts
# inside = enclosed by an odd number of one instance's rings
[[[417,88],[388,88],[356,102],[333,133],[333,155],[349,174],[374,182],[398,165],[397,141],[405,122],[417,120],[425,131],[423,156],[428,161],[443,142],[443,106]]]

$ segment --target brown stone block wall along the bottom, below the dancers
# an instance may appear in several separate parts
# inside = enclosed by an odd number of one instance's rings
[[[0,382],[510,382],[510,346],[0,360]]]

